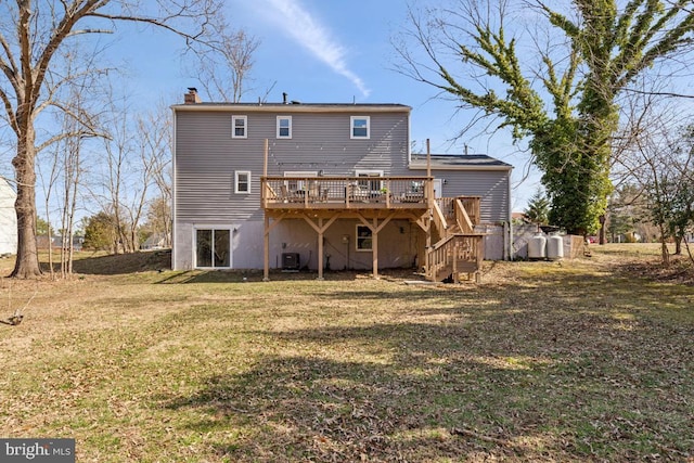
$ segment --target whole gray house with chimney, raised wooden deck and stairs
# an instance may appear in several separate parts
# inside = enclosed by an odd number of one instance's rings
[[[409,106],[201,103],[191,89],[172,110],[175,270],[457,280],[479,269],[475,228],[510,222],[511,166],[411,155]]]

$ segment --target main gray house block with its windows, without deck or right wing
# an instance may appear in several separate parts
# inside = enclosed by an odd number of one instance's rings
[[[293,191],[304,177],[411,175],[409,106],[189,103],[174,114],[175,269],[264,267],[264,173],[287,178]],[[333,269],[370,268],[370,249],[356,244],[358,221],[340,220],[324,236]],[[407,219],[388,226],[394,242],[410,240],[410,229]],[[282,267],[291,254],[299,267],[316,269],[316,246],[310,224],[279,223],[271,266]],[[413,263],[411,252],[395,248],[382,248],[389,256],[384,266]]]

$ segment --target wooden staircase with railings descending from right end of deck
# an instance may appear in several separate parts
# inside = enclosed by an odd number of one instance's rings
[[[426,278],[429,281],[452,279],[461,274],[480,281],[484,260],[484,233],[475,233],[479,223],[479,197],[442,198],[434,205],[434,229],[438,241],[427,249]]]

